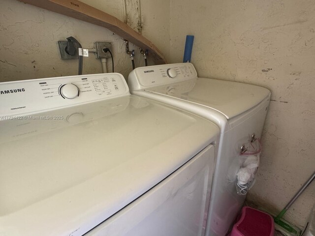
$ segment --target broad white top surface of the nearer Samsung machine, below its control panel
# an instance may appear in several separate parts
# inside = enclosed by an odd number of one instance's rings
[[[133,95],[0,120],[0,234],[82,236],[217,140]]]

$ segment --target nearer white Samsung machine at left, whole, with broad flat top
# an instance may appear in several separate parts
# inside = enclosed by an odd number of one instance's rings
[[[219,128],[122,75],[0,84],[1,236],[203,236]]]

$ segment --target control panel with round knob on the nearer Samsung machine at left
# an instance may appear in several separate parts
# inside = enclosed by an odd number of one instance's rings
[[[28,114],[129,94],[121,74],[65,76],[0,83],[0,115]]]

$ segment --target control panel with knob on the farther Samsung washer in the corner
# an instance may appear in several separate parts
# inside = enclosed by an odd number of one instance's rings
[[[128,78],[131,89],[145,89],[158,85],[196,79],[197,72],[191,63],[177,63],[138,67]]]

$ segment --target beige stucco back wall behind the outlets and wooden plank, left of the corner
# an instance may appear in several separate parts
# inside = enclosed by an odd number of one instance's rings
[[[85,2],[124,20],[123,0],[85,0]],[[126,0],[126,5],[128,25],[137,30],[136,1]],[[153,0],[143,1],[141,8],[143,8],[143,35],[165,51],[167,58],[169,10],[163,12],[163,16],[166,14],[166,17],[161,18],[159,14],[164,9],[162,5],[155,6]],[[165,30],[161,30],[160,27]],[[131,71],[131,61],[125,53],[125,43],[120,36],[108,29],[17,0],[1,0],[0,82],[76,75],[78,60],[60,58],[58,40],[65,40],[68,36],[78,39],[83,48],[93,48],[96,41],[112,42],[115,72],[122,73],[127,78]],[[133,44],[129,46],[136,52],[136,67],[144,66],[144,59],[140,55],[139,48]],[[149,63],[153,64],[150,57]],[[83,59],[83,64],[83,74],[102,72],[100,60],[95,59],[93,53],[90,53],[89,58]],[[110,59],[107,68],[111,72]]]

